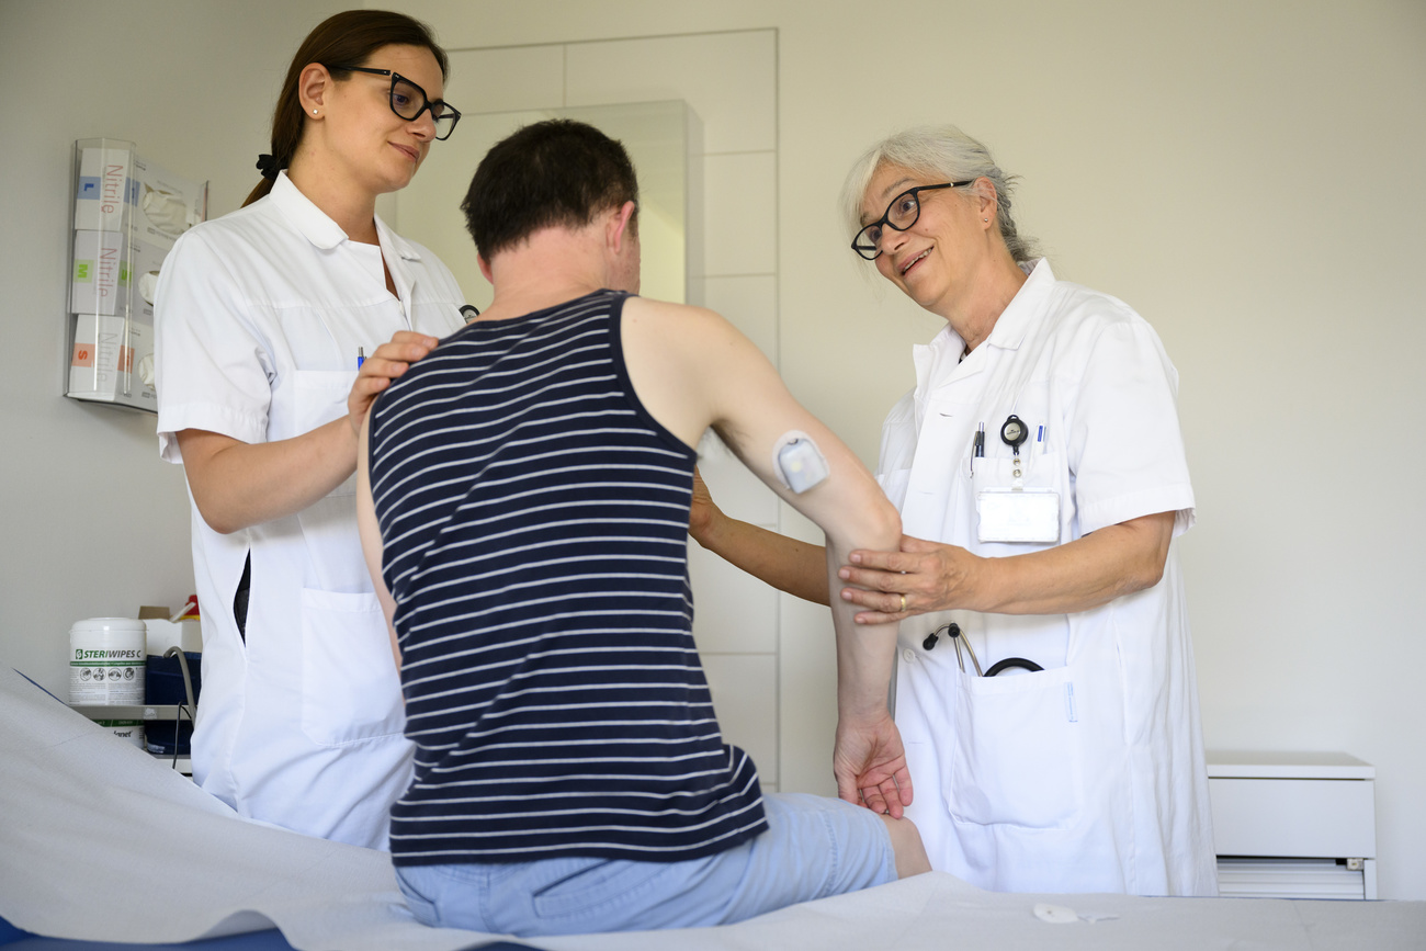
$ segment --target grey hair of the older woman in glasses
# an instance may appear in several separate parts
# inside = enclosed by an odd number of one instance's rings
[[[868,148],[847,173],[841,187],[841,210],[847,220],[847,234],[861,228],[861,200],[867,185],[883,165],[898,165],[907,171],[930,175],[941,181],[990,178],[995,185],[995,221],[1000,237],[1017,264],[1028,264],[1040,257],[1032,238],[1015,230],[1011,214],[1010,188],[1017,181],[1007,175],[990,157],[990,150],[954,125],[917,125],[881,140]]]

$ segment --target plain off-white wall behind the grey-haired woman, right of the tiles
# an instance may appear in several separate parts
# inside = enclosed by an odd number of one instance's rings
[[[984,138],[1022,175],[1020,221],[1057,271],[1138,308],[1178,365],[1209,746],[1376,764],[1382,895],[1426,898],[1426,308],[1413,278],[1426,254],[1426,7],[402,9],[451,47],[774,27],[779,214],[749,227],[777,230],[784,376],[868,463],[911,382],[907,351],[937,322],[858,277],[834,195],[860,150],[903,125],[955,121]],[[784,677],[787,639],[813,637],[804,615],[783,607]],[[806,704],[824,710],[826,697]],[[824,716],[809,720],[830,737]],[[786,723],[783,736],[794,788]]]

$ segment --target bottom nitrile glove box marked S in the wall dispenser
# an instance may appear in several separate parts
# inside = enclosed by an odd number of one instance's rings
[[[74,399],[158,412],[154,392],[154,327],[104,314],[74,315],[70,389]]]

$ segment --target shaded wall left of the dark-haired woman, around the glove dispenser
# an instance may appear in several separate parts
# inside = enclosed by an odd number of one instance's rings
[[[154,416],[61,395],[74,140],[131,140],[232,211],[292,51],[341,6],[0,0],[0,663],[60,697],[71,623],[193,593],[183,471],[160,462]]]

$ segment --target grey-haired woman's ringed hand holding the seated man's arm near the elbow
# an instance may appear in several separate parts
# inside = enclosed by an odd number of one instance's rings
[[[848,583],[841,599],[866,610],[858,624],[906,620],[954,607],[975,607],[977,583],[985,559],[954,545],[901,536],[897,552],[858,549],[837,576]]]

